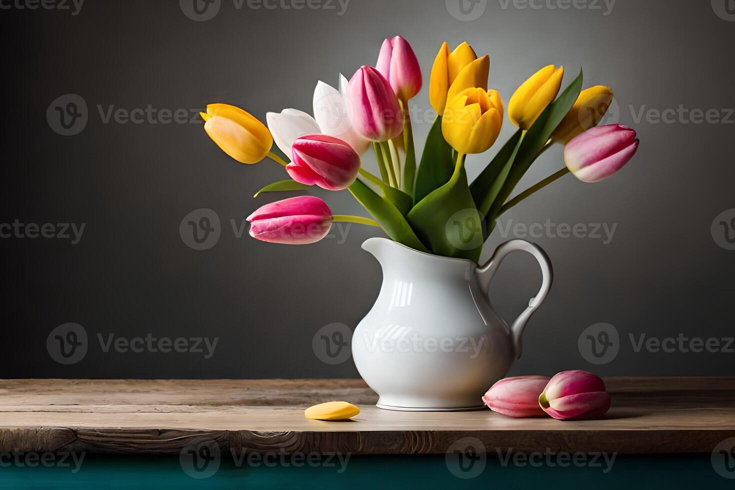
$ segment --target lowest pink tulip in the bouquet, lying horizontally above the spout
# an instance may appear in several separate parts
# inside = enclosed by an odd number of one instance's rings
[[[262,242],[308,245],[326,237],[332,215],[320,198],[300,195],[262,206],[248,222],[250,236]]]

